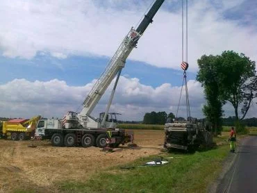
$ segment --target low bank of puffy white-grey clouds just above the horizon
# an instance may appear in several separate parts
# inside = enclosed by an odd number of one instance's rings
[[[77,110],[94,82],[95,80],[85,86],[74,87],[57,79],[47,82],[15,79],[0,85],[0,117],[32,117],[34,115],[62,117],[68,110]],[[92,114],[94,117],[105,110],[112,87],[113,83],[95,108]],[[151,111],[176,114],[180,92],[181,87],[170,84],[151,87],[140,83],[138,78],[121,76],[110,111],[122,113],[119,118],[122,120],[142,120],[144,113]],[[191,116],[203,117],[201,107],[205,100],[201,84],[188,81],[188,92]],[[226,116],[233,115],[231,106],[225,106],[224,110]],[[248,117],[254,117],[256,110],[256,105],[252,106]],[[178,116],[186,117],[185,88]]]

